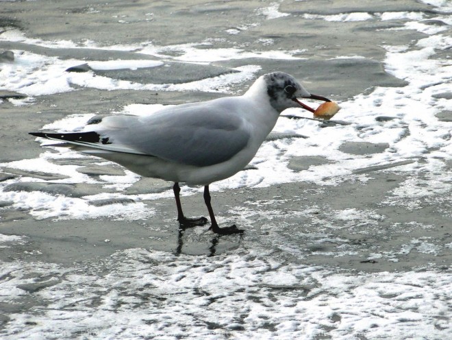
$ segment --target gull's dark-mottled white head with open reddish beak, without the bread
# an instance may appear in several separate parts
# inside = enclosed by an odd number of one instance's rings
[[[258,95],[262,91],[266,92],[266,96],[270,101],[270,105],[278,112],[287,108],[301,108],[314,112],[313,108],[301,102],[298,98],[317,99],[330,101],[319,95],[309,93],[297,80],[284,72],[273,72],[262,75],[255,84],[249,88],[247,93]]]

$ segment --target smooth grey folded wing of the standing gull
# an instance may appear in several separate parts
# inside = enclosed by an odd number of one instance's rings
[[[229,160],[250,138],[243,119],[224,110],[188,106],[137,119],[112,131],[112,143],[164,160],[205,167]]]

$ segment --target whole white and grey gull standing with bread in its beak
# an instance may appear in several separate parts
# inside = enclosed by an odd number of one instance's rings
[[[298,98],[330,101],[312,95],[283,72],[262,75],[244,95],[167,106],[145,116],[93,117],[82,132],[30,132],[64,141],[77,151],[105,158],[143,177],[174,182],[177,221],[181,228],[203,226],[205,217],[185,217],[179,182],[204,186],[212,230],[241,234],[233,226],[220,228],[211,205],[209,184],[241,171],[255,156],[279,114],[287,108],[314,109]]]

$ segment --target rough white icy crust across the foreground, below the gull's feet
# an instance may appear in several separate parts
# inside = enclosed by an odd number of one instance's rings
[[[41,264],[30,275],[17,262],[3,273],[3,301],[47,286],[34,293],[39,313],[12,315],[3,339],[444,339],[452,289],[436,271],[334,273],[265,250],[194,260],[130,249],[88,271]]]

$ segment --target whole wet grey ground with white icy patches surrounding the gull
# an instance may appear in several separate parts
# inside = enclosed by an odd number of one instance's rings
[[[0,5],[3,338],[452,337],[450,1]],[[275,70],[340,122],[286,110],[212,184],[242,237],[178,232],[171,184],[27,136]]]

